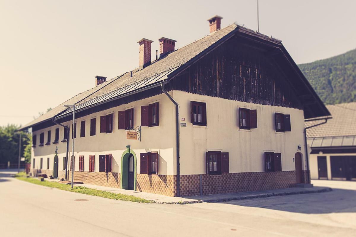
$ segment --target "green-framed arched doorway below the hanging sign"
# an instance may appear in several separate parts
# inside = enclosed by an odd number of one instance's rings
[[[126,146],[121,156],[121,188],[136,191],[136,154]]]

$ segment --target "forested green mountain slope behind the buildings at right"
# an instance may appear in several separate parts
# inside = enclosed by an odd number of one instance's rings
[[[324,103],[356,101],[356,49],[298,66]]]

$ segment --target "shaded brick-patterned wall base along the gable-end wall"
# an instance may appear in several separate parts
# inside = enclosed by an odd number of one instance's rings
[[[295,187],[295,171],[201,174],[203,195]],[[200,195],[200,175],[180,176],[180,195]]]

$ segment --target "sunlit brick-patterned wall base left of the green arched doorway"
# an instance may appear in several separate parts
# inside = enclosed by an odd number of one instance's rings
[[[69,180],[72,180],[71,171],[69,171]],[[121,188],[119,173],[74,171],[74,181],[105,187]]]

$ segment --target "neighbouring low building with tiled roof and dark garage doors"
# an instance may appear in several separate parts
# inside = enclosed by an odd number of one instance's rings
[[[307,130],[310,177],[356,180],[356,102],[326,107],[333,118]],[[306,126],[320,122],[307,122]]]

